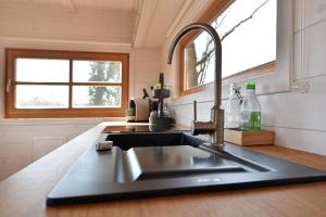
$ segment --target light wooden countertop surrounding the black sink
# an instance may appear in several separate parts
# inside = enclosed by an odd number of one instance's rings
[[[47,208],[47,194],[105,125],[121,123],[96,126],[0,182],[0,216],[326,216],[326,182]],[[326,170],[326,156],[275,145],[250,149]]]

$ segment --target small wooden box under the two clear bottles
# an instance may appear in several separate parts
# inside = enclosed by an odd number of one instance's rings
[[[240,131],[237,128],[224,129],[224,141],[240,145],[273,144],[274,132],[268,130],[261,131]]]

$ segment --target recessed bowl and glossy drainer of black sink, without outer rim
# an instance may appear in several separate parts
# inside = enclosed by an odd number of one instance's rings
[[[268,171],[204,144],[201,139],[181,133],[109,135],[106,140],[118,146],[115,157],[115,181],[206,176],[218,173]],[[203,149],[206,150],[203,150]]]

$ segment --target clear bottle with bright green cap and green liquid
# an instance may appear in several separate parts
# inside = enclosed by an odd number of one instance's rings
[[[261,103],[255,95],[255,82],[246,84],[244,99],[241,104],[241,127],[242,131],[261,130]]]

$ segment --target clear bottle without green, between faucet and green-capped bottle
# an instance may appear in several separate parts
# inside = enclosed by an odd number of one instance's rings
[[[225,128],[240,127],[240,101],[236,95],[237,85],[229,85],[229,97],[225,110]]]

